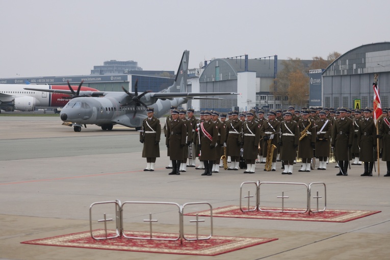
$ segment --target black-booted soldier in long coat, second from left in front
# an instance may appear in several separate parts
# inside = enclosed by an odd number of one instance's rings
[[[186,146],[187,127],[179,119],[179,111],[172,110],[172,120],[167,123],[167,137],[165,144],[169,150],[169,159],[172,161],[172,171],[169,175],[180,175],[180,162],[183,160],[184,147]]]

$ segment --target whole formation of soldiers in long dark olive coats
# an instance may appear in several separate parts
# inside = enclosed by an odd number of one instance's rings
[[[298,172],[310,172],[315,169],[316,160],[317,170],[327,170],[331,160],[339,168],[337,176],[347,176],[351,165],[362,164],[364,171],[360,176],[373,176],[379,149],[387,166],[384,176],[390,176],[390,118],[387,109],[382,111],[377,133],[370,108],[295,111],[289,107],[285,111],[269,111],[267,119],[262,110],[231,111],[227,115],[201,111],[197,119],[193,109],[171,107],[163,127],[170,159],[166,168],[171,169],[169,175],[180,175],[187,167],[203,170],[204,176],[220,172],[220,168],[253,174],[256,164],[264,164],[264,171],[276,171],[276,163],[281,162],[281,174],[293,174],[294,164],[301,164]],[[154,171],[156,158],[160,157],[161,124],[153,116],[152,108],[147,109],[147,116],[140,142],[144,145],[142,157],[147,162],[144,171]]]

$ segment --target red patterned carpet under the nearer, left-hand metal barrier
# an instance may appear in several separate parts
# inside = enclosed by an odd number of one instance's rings
[[[113,230],[110,230],[113,232]],[[93,231],[95,237],[104,236],[103,229]],[[110,233],[109,233],[110,235]],[[132,232],[132,235],[139,237],[149,236],[149,232]],[[177,237],[172,233],[153,233],[153,237]],[[194,238],[195,236],[187,235],[186,237]],[[246,247],[251,247],[267,242],[275,241],[269,238],[240,238],[240,237],[221,237],[213,236],[209,240],[186,241],[183,244],[180,241],[163,241],[163,240],[143,240],[143,239],[126,239],[116,238],[107,240],[94,240],[91,238],[90,231],[73,233],[64,236],[37,239],[21,242],[22,244],[46,245],[46,246],[64,246],[80,247],[93,249],[107,249],[120,251],[148,252],[148,253],[169,253],[169,254],[191,254],[191,255],[218,255],[231,251],[236,251]]]

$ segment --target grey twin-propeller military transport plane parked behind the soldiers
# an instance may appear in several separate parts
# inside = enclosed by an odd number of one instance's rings
[[[178,106],[189,99],[221,99],[217,97],[201,97],[211,95],[231,95],[230,92],[199,92],[185,93],[188,77],[188,60],[190,51],[185,50],[176,73],[173,85],[161,92],[145,91],[138,93],[137,82],[135,92],[90,92],[88,97],[75,95],[62,109],[60,117],[66,125],[73,126],[74,132],[80,132],[82,126],[96,124],[103,130],[111,130],[113,125],[141,128],[142,121],[147,117],[146,108],[154,108],[157,118],[165,115],[172,106]],[[31,88],[25,88],[31,90]],[[80,92],[82,95],[83,92]],[[63,124],[64,124],[63,123]]]

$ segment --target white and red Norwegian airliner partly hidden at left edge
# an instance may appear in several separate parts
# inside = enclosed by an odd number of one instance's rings
[[[35,86],[35,91],[27,91],[26,86]],[[79,86],[80,87],[80,86]],[[38,89],[39,88],[39,89]],[[68,95],[74,95],[77,86],[62,85],[24,85],[24,84],[0,84],[0,109],[5,111],[34,111],[36,108],[62,108],[69,101]],[[53,90],[54,93],[47,93]],[[55,90],[63,90],[55,93]],[[97,91],[89,87],[81,87],[83,93]],[[64,95],[68,94],[68,95]],[[1,113],[1,110],[0,110]]]

